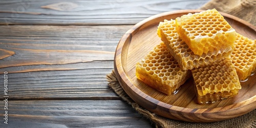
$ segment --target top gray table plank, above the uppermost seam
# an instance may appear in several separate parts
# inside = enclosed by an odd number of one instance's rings
[[[127,25],[166,11],[197,9],[206,2],[208,0],[5,0],[0,2],[0,24]]]

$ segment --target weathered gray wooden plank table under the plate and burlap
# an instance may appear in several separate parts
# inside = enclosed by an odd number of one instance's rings
[[[147,17],[206,2],[0,1],[0,127],[154,127],[108,86],[118,41]]]

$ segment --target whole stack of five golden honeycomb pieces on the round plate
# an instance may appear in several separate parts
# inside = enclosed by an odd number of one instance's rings
[[[216,9],[165,19],[157,34],[164,44],[137,63],[136,76],[165,94],[191,70],[198,102],[213,103],[237,95],[239,79],[256,68],[256,41],[237,34]]]

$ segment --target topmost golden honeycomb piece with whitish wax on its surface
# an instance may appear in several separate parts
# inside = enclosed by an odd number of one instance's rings
[[[216,9],[177,17],[176,24],[180,37],[197,55],[233,48],[236,40],[236,31]]]

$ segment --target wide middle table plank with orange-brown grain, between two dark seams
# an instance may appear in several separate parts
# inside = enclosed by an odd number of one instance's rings
[[[105,76],[131,27],[0,26],[0,49],[14,52],[0,60],[1,78],[9,73],[10,98],[117,99]]]

